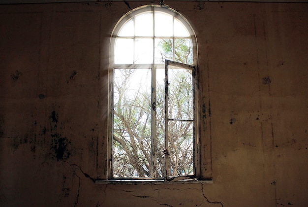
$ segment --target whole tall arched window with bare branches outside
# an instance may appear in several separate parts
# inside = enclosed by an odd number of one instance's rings
[[[196,36],[158,5],[125,14],[110,41],[109,179],[198,176]]]

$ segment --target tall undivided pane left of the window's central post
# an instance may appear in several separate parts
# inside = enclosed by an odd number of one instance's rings
[[[113,176],[151,176],[151,69],[115,69]]]

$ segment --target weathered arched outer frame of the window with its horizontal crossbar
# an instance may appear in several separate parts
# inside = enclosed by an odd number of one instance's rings
[[[194,175],[191,176],[179,176],[175,177],[173,179],[169,179],[167,177],[164,177],[164,179],[153,179],[153,178],[114,178],[112,174],[112,159],[113,159],[113,85],[114,85],[114,75],[113,71],[114,69],[121,69],[121,68],[138,68],[142,65],[143,68],[149,68],[149,69],[156,69],[156,66],[161,65],[161,64],[114,64],[114,52],[115,52],[115,43],[116,43],[116,38],[119,32],[122,29],[122,26],[131,18],[133,18],[135,15],[138,15],[143,12],[147,11],[161,11],[167,14],[172,15],[173,17],[177,18],[184,27],[187,29],[187,32],[190,35],[190,39],[192,41],[192,48],[193,48],[193,66],[187,65],[188,67],[194,67],[194,74],[192,77],[193,80],[193,113],[194,113]],[[154,38],[154,37],[153,37]],[[174,38],[174,36],[173,36]],[[165,8],[165,7],[160,7],[159,5],[145,5],[145,6],[140,6],[137,7],[129,12],[127,12],[116,24],[111,38],[110,38],[110,64],[109,64],[109,90],[108,90],[108,149],[107,149],[107,180],[109,181],[145,181],[145,182],[156,182],[156,181],[179,181],[179,180],[186,180],[186,181],[191,181],[191,180],[198,180],[202,177],[201,175],[201,162],[200,162],[200,118],[199,118],[199,86],[198,86],[198,48],[197,48],[197,38],[196,35],[191,27],[191,25],[188,23],[188,21],[185,19],[184,16],[182,16],[180,13],[177,11],[171,9],[171,8]],[[165,64],[177,64],[175,61],[165,61]],[[182,63],[179,63],[182,64]],[[182,64],[186,65],[186,64]],[[152,73],[154,74],[154,73]],[[155,75],[152,75],[152,82],[155,82]],[[153,86],[152,86],[153,87]],[[153,93],[152,93],[152,100],[153,100]],[[153,102],[153,101],[152,101]],[[153,109],[152,109],[153,112]],[[153,114],[153,113],[152,113]],[[153,116],[153,115],[152,115]],[[152,126],[155,125],[155,123],[152,123]],[[155,128],[152,127],[152,134],[153,130]],[[166,172],[166,169],[165,169]],[[166,173],[165,173],[166,174]]]

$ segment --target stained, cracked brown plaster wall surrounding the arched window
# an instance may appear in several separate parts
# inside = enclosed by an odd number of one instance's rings
[[[197,35],[214,183],[94,183],[124,2],[0,5],[0,206],[308,206],[308,4],[165,3]]]

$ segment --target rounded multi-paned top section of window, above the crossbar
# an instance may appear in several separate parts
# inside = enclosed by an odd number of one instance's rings
[[[196,36],[177,11],[146,5],[126,13],[111,38],[111,63],[163,64],[165,59],[196,65]]]

